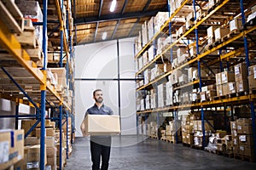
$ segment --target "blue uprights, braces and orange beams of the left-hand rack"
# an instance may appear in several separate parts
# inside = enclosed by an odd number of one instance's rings
[[[59,21],[60,21],[60,30],[61,30],[61,66],[63,66],[62,63],[62,54],[63,54],[63,48],[64,50],[67,52],[67,84],[69,84],[68,80],[69,78],[69,68],[68,68],[68,59],[69,58],[69,54],[71,54],[71,56],[73,56],[73,46],[72,46],[72,42],[71,42],[71,38],[70,38],[70,45],[67,44],[67,37],[66,34],[64,33],[65,28],[63,26],[63,20],[62,20],[62,11],[61,11],[61,7],[60,7],[60,3],[63,3],[63,0],[55,0],[55,4],[57,6],[57,14],[59,17]],[[18,127],[18,120],[22,119],[22,118],[36,118],[38,119],[38,121],[29,129],[29,131],[25,134],[25,138],[28,136],[29,133],[32,132],[32,130],[37,127],[38,123],[41,123],[41,138],[40,138],[40,169],[44,170],[45,169],[45,162],[44,162],[44,156],[45,156],[45,110],[46,110],[46,103],[49,104],[49,102],[47,101],[47,92],[49,92],[49,94],[53,95],[55,97],[56,100],[59,101],[59,103],[57,105],[59,105],[59,109],[60,109],[60,113],[59,113],[59,117],[51,117],[50,119],[53,120],[58,120],[59,123],[59,127],[60,127],[60,168],[61,169],[61,165],[62,165],[62,154],[61,154],[61,149],[62,149],[62,117],[66,119],[67,122],[67,129],[68,129],[68,117],[69,117],[69,112],[71,111],[71,113],[73,113],[73,102],[72,102],[72,108],[70,109],[69,106],[67,105],[66,102],[63,101],[63,99],[61,98],[61,96],[55,92],[55,89],[49,87],[49,85],[47,85],[46,82],[46,70],[47,70],[47,9],[48,9],[48,4],[47,4],[47,0],[43,1],[43,23],[35,23],[37,25],[41,25],[43,26],[43,54],[44,57],[46,59],[44,59],[44,63],[43,63],[43,68],[41,69],[41,71],[44,74],[44,77],[39,77],[38,73],[35,71],[35,69],[33,69],[33,67],[31,65],[28,64],[27,61],[30,60],[30,56],[26,53],[25,49],[21,48],[20,42],[17,41],[17,39],[15,38],[14,34],[12,34],[9,29],[7,28],[7,26],[5,26],[5,24],[0,20],[0,44],[2,46],[2,48],[4,48],[5,50],[7,50],[9,52],[9,54],[11,54],[15,60],[21,65],[22,68],[25,68],[25,70],[32,76],[35,78],[35,80],[38,82],[38,84],[40,85],[40,104],[33,101],[32,97],[29,94],[26,94],[26,91],[21,88],[20,84],[18,82],[15,81],[15,78],[12,77],[9,74],[9,71],[6,71],[4,69],[4,67],[1,67],[1,69],[3,70],[3,72],[9,77],[9,79],[14,82],[15,86],[17,88],[19,88],[20,92],[22,92],[22,94],[24,94],[24,96],[26,97],[26,99],[28,99],[28,102],[23,100],[23,99],[19,99],[17,97],[12,97],[9,96],[7,94],[0,94],[0,98],[3,99],[9,99],[12,101],[15,101],[16,103],[16,107],[15,107],[15,116],[8,116],[8,115],[4,115],[4,116],[0,116],[0,118],[4,118],[4,117],[14,117],[15,118],[15,127]],[[68,13],[67,13],[68,14]],[[67,22],[68,22],[68,18],[67,18]],[[67,23],[67,31],[68,30],[68,23]],[[67,34],[68,35],[68,34]],[[69,35],[68,35],[69,37]],[[33,64],[34,65],[34,64]],[[72,90],[74,90],[73,88],[73,82],[70,83],[70,86],[72,86]],[[20,103],[24,103],[26,105],[32,105],[34,108],[36,108],[36,115],[19,115],[19,105]],[[54,104],[55,105],[55,104]],[[63,114],[63,109],[65,109],[67,115],[64,117],[62,116]],[[74,129],[73,129],[74,130]],[[71,132],[73,133],[73,131]],[[68,130],[67,130],[67,159],[68,159]]]

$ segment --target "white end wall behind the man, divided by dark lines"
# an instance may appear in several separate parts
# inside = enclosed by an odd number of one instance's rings
[[[134,79],[135,66],[133,54],[134,38],[119,40],[119,77]],[[98,42],[77,46],[75,48],[75,127],[76,136],[81,136],[80,124],[85,111],[92,105],[92,92],[102,88],[104,104],[113,109],[114,114],[121,116],[122,134],[137,133],[135,82],[120,80],[120,95],[118,81],[117,41]],[[79,80],[106,79],[106,80]],[[120,96],[120,113],[119,113]]]

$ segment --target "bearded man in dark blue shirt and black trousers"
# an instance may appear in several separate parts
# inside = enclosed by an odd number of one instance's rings
[[[86,113],[91,115],[113,115],[113,111],[106,105],[103,105],[102,89],[96,89],[93,92],[95,105],[90,107]],[[92,170],[99,170],[102,158],[101,170],[108,170],[108,162],[111,149],[111,136],[90,136],[90,156],[92,161]]]

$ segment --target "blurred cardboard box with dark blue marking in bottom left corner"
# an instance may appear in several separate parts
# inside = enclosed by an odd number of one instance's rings
[[[6,169],[24,156],[24,130],[0,130],[0,167]]]

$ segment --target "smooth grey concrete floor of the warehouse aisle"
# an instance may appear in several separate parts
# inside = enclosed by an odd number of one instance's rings
[[[91,169],[89,139],[76,138],[67,160],[70,170]],[[256,169],[256,163],[218,156],[204,150],[142,136],[113,137],[109,170]]]

